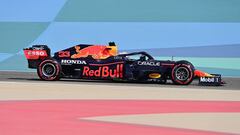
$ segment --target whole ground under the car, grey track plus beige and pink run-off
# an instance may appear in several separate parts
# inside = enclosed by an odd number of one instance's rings
[[[240,134],[240,79],[188,86],[0,72],[1,135]]]

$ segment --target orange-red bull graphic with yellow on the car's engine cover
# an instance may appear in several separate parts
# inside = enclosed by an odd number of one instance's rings
[[[110,56],[117,55],[116,46],[89,46],[81,49],[80,46],[75,46],[76,54],[73,54],[71,58],[77,59],[81,57],[92,56],[94,59],[106,59]]]

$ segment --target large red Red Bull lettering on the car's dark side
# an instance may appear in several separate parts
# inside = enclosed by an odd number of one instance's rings
[[[94,69],[91,69],[89,66],[84,66],[82,75],[87,77],[123,78],[123,64],[117,64],[116,66],[99,66]]]

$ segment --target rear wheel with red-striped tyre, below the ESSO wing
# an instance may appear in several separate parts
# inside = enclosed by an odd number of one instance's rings
[[[41,80],[56,81],[60,79],[61,65],[54,59],[43,60],[37,68]]]

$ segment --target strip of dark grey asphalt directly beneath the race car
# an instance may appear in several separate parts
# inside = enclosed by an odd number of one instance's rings
[[[0,81],[9,82],[45,82],[41,81],[37,74],[34,72],[9,72],[0,71]],[[170,80],[167,84],[154,84],[154,83],[129,83],[129,82],[112,82],[106,80],[82,80],[82,79],[61,79],[55,83],[65,84],[94,84],[94,85],[112,85],[112,86],[140,86],[140,87],[167,87],[167,88],[186,88],[186,89],[211,89],[211,90],[240,90],[240,78],[224,77],[223,81],[226,82],[223,86],[200,86],[198,80],[194,80],[190,85],[179,86],[174,85]]]

